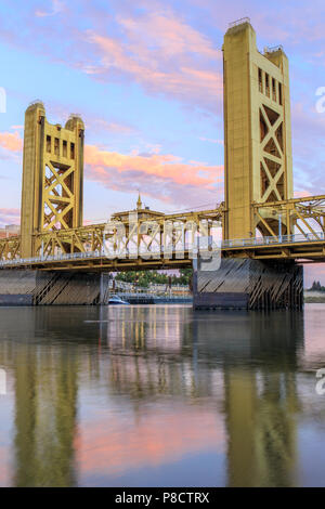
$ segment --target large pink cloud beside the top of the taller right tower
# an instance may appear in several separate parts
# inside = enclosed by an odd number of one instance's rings
[[[171,13],[118,18],[125,39],[87,31],[87,42],[99,55],[91,74],[130,76],[151,93],[197,101],[216,109],[222,96],[221,51]],[[81,68],[89,73],[89,63]]]

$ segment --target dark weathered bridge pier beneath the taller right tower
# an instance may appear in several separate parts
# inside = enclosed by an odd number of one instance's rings
[[[194,309],[300,310],[302,305],[303,269],[295,262],[222,259],[217,271],[203,271],[199,261],[194,262]]]

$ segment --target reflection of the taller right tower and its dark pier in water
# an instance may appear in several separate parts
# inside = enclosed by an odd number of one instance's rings
[[[200,315],[204,316],[203,314]],[[300,313],[220,313],[207,321],[205,351],[222,360],[231,486],[295,484],[298,397],[297,353],[303,344]],[[196,335],[204,334],[197,321]]]

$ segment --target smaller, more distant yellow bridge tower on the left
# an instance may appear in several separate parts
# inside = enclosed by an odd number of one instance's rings
[[[21,256],[32,257],[35,235],[82,226],[83,133],[81,118],[65,127],[48,122],[41,102],[25,114]]]

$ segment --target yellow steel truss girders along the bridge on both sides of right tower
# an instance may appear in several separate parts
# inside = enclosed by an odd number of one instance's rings
[[[222,247],[223,257],[253,259],[295,259],[325,260],[325,195],[309,196],[270,204],[252,204],[253,211],[263,220],[262,209],[266,208],[274,214],[288,214],[291,232],[297,229],[303,237],[299,242],[288,238],[282,243],[274,231],[269,229],[270,239],[274,237],[276,245],[231,245]],[[188,250],[184,246],[184,232],[187,232],[188,243],[194,242],[198,231],[207,237],[216,222],[223,223],[226,210],[224,204],[218,208],[198,212],[173,213],[158,216],[153,219],[140,218],[134,222],[134,211],[129,218],[114,219],[113,222],[92,224],[78,229],[42,232],[34,235],[34,257],[41,258],[38,263],[22,261],[22,266],[35,266],[49,270],[131,270],[136,267],[182,266],[191,263]],[[312,225],[316,221],[318,227]],[[108,226],[107,226],[108,225]],[[119,226],[122,235],[118,236]],[[308,237],[309,235],[309,237]],[[322,238],[320,238],[320,235]],[[312,236],[312,240],[311,237]],[[296,236],[297,237],[297,236]],[[249,240],[249,239],[248,239]],[[110,244],[114,249],[128,252],[128,257],[107,259],[103,251],[104,245]],[[164,246],[164,253],[156,256],[156,247]],[[134,249],[133,249],[134,248]],[[21,237],[13,236],[0,240],[0,260],[20,260]],[[133,256],[132,256],[133,249]],[[146,251],[152,256],[142,259],[140,253]],[[70,253],[96,252],[95,259],[86,260],[48,260],[49,257]],[[131,253],[131,256],[130,256]],[[87,255],[88,256],[88,255]],[[16,265],[15,265],[16,266]]]

